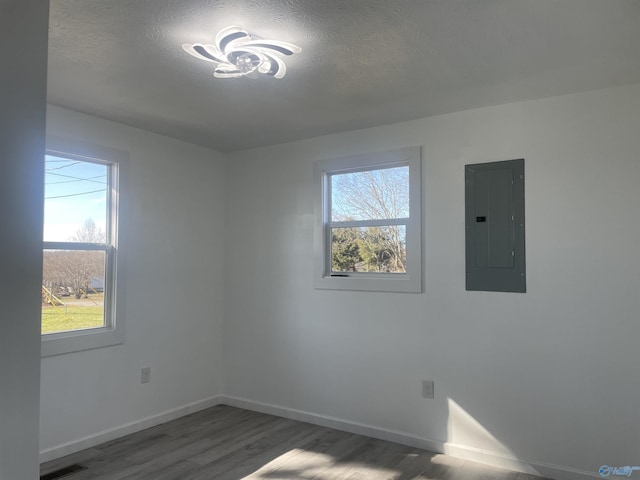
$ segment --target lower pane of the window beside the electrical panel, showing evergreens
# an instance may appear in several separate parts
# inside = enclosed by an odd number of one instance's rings
[[[407,271],[406,226],[331,229],[332,272]]]

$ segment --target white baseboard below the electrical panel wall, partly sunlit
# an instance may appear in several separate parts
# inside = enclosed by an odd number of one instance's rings
[[[246,398],[222,395],[220,397],[220,402],[233,407],[267,413],[292,420],[300,420],[314,425],[335,428],[336,430],[342,430],[359,435],[366,435],[380,440],[387,440],[390,442],[400,443],[402,445],[422,448],[434,453],[451,455],[464,460],[471,460],[494,467],[507,468],[517,472],[540,475],[546,478],[553,478],[556,480],[585,480],[587,478],[600,478],[597,472],[588,472],[585,470],[549,463],[530,462],[513,456],[507,456],[466,445],[421,438],[405,432],[351,422],[326,415],[318,415],[311,412],[258,402]]]

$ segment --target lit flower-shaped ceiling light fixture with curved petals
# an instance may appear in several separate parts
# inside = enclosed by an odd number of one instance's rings
[[[215,63],[213,76],[216,78],[258,78],[261,75],[282,78],[287,67],[280,57],[302,52],[297,45],[266,40],[236,25],[220,30],[215,44],[185,43],[182,48],[200,60]]]

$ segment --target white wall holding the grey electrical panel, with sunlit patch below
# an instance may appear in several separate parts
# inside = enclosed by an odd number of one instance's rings
[[[227,393],[567,478],[637,464],[639,127],[634,85],[232,155]],[[424,148],[425,292],[314,290],[313,161],[411,145]],[[514,158],[528,292],[466,292],[464,165]]]

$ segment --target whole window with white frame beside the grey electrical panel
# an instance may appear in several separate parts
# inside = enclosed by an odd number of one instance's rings
[[[422,291],[420,148],[315,164],[316,288]]]

